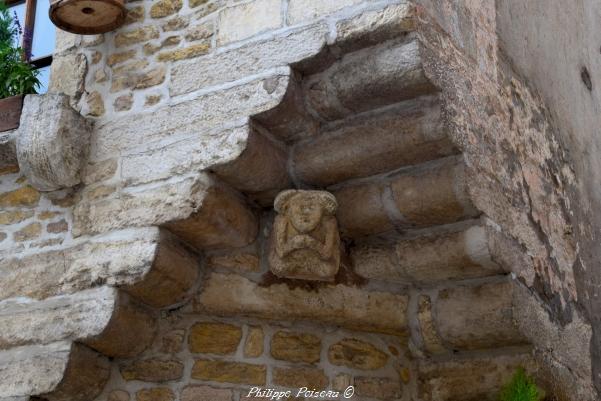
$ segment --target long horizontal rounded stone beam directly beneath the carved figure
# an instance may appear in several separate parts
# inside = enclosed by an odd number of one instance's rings
[[[243,277],[212,273],[195,310],[219,315],[311,320],[365,331],[406,332],[407,296],[363,291],[341,284],[317,292],[285,284],[258,286]]]

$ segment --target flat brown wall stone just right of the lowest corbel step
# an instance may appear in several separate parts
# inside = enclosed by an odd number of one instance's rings
[[[174,359],[143,359],[121,366],[120,370],[123,379],[128,381],[165,382],[181,379],[184,365]]]

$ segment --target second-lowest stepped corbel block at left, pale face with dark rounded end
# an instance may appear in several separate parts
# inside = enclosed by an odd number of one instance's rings
[[[0,349],[77,340],[127,357],[150,345],[154,323],[148,311],[110,287],[44,301],[8,299],[0,302]]]

